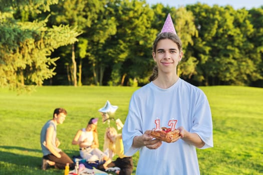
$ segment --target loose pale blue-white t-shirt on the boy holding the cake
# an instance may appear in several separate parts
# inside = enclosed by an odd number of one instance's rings
[[[133,93],[122,130],[125,155],[140,151],[136,174],[200,174],[195,146],[182,139],[157,149],[132,147],[134,136],[155,128],[157,118],[160,127],[177,120],[175,128],[197,133],[205,142],[202,148],[212,147],[211,111],[203,91],[181,78],[167,89],[150,82]]]

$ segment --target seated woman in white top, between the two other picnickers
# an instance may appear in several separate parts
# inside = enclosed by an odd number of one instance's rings
[[[79,145],[80,155],[86,161],[94,162],[99,160],[103,166],[107,167],[111,159],[99,149],[97,124],[98,118],[91,118],[86,128],[77,131],[72,144]]]

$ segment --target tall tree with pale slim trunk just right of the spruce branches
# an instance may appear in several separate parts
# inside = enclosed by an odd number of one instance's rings
[[[82,32],[78,37],[80,42],[72,47],[74,48],[74,50],[72,49],[72,53],[76,53],[79,63],[79,85],[82,84],[83,59],[89,60],[89,65],[93,67],[94,83],[102,83],[104,70],[103,66],[98,64],[98,60],[101,57],[96,52],[110,35],[116,33],[115,18],[107,14],[109,9],[108,3],[111,3],[111,0],[64,0],[58,6],[56,5],[52,8],[54,23],[70,24],[76,26],[79,32]],[[76,86],[77,64],[75,54],[72,54],[72,62],[75,65],[73,66],[73,72],[75,72],[74,85]],[[102,74],[98,72],[99,67]],[[101,76],[99,77],[98,75]]]

